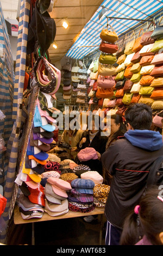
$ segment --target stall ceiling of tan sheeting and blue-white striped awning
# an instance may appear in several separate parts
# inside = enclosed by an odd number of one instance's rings
[[[99,19],[103,8],[105,13]],[[49,47],[51,61],[59,61],[64,56],[83,59],[97,50],[101,43],[99,34],[107,20],[120,36],[139,23],[152,21],[153,15],[161,9],[163,0],[54,1],[50,14],[57,26],[55,42],[58,47]],[[62,27],[64,18],[69,25],[67,29]]]

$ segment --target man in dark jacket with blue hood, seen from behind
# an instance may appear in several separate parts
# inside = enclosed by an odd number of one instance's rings
[[[162,135],[150,130],[152,109],[133,104],[125,113],[127,132],[102,154],[104,168],[113,176],[105,205],[106,245],[119,245],[124,219],[139,204],[150,166],[163,154]]]

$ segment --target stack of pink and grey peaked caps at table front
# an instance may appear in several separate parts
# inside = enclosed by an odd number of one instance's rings
[[[68,194],[71,184],[57,177],[47,178],[45,185],[45,212],[50,216],[59,216],[68,212]]]

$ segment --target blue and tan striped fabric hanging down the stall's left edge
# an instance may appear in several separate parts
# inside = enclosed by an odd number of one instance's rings
[[[0,3],[1,4],[1,3]],[[0,185],[3,186],[3,196],[7,199],[7,205],[1,219],[3,218],[4,229],[0,230],[0,242],[5,243],[7,238],[7,226],[9,218],[11,217],[12,210],[16,200],[17,193],[14,193],[14,181],[17,167],[18,158],[18,143],[20,139],[20,127],[22,121],[22,110],[19,108],[22,104],[23,88],[24,88],[24,75],[26,70],[26,52],[27,52],[27,37],[28,37],[28,24],[29,24],[29,11],[30,0],[21,0],[20,4],[20,19],[18,24],[18,40],[17,40],[17,55],[16,55],[16,69],[15,77],[13,70],[12,53],[8,38],[8,32],[3,19],[3,12],[0,5],[0,50],[3,48],[4,59],[3,62],[0,58],[1,70],[0,73],[4,74],[3,80],[0,76],[1,99],[4,95],[5,109],[3,132],[4,138],[7,138],[7,151],[5,155],[1,156],[0,168],[3,173],[0,173]],[[2,23],[1,23],[2,22]],[[6,74],[4,73],[7,70]],[[13,72],[13,74],[12,74]],[[15,80],[15,81],[14,81]],[[3,83],[2,83],[3,82]],[[15,83],[14,83],[15,82]],[[3,92],[2,92],[3,89]],[[14,93],[13,93],[14,92]],[[7,97],[8,96],[8,97]],[[0,100],[1,108],[1,100]],[[2,109],[3,110],[3,109]],[[2,126],[0,129],[2,130]],[[4,166],[2,166],[4,165]],[[0,223],[1,227],[1,223]]]

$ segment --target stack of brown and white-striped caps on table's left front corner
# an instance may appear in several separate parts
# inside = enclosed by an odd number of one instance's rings
[[[23,219],[42,218],[43,206],[32,203],[25,195],[20,195],[18,207]]]

